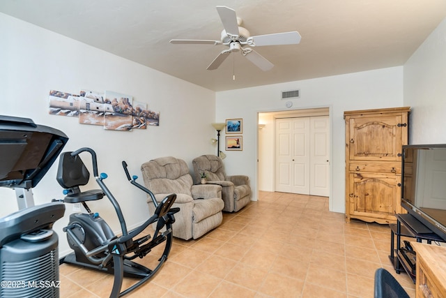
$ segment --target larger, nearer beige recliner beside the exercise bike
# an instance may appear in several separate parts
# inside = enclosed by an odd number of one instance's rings
[[[176,193],[172,207],[179,207],[172,226],[174,237],[197,239],[206,232],[217,228],[223,219],[222,187],[218,185],[193,185],[189,167],[185,161],[172,156],[156,158],[141,165],[146,188],[154,194],[157,202],[166,195]],[[155,211],[152,200],[148,199],[151,214]]]

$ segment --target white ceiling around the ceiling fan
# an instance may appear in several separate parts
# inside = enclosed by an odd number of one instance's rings
[[[251,36],[299,31],[299,45],[256,47],[263,72],[239,53],[206,67],[224,45],[215,6],[229,6]],[[214,91],[401,66],[446,17],[445,0],[1,0],[0,12]],[[236,80],[233,80],[233,73]]]

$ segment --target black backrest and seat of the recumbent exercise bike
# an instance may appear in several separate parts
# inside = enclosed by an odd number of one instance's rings
[[[72,156],[71,153],[63,152],[60,155],[59,168],[57,169],[56,180],[63,188],[66,188],[64,191],[66,197],[63,198],[63,202],[78,203],[104,198],[105,193],[101,189],[80,191],[79,186],[89,183],[90,172],[80,156]]]

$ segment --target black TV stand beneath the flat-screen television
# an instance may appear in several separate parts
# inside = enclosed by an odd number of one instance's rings
[[[397,274],[406,272],[412,278],[413,283],[415,283],[415,252],[410,251],[410,248],[401,246],[401,237],[415,238],[417,242],[425,240],[427,244],[431,244],[432,241],[445,242],[445,240],[410,214],[395,214],[395,216],[397,217],[397,223],[390,224],[389,258]],[[394,243],[395,236],[397,237],[396,248]]]

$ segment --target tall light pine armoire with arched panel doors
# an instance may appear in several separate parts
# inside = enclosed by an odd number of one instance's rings
[[[344,112],[346,221],[395,223],[401,208],[401,154],[410,107]]]

